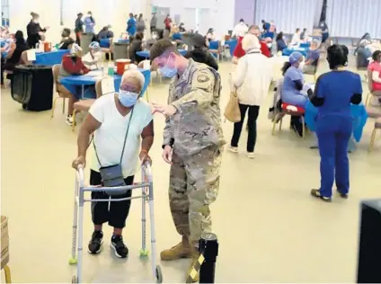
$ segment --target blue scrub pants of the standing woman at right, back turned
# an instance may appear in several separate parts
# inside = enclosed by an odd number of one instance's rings
[[[320,152],[320,193],[332,196],[333,180],[342,194],[350,191],[348,143],[352,134],[352,118],[327,115],[317,119],[316,136]]]

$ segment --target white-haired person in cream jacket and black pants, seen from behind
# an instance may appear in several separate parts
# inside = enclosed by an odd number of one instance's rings
[[[237,153],[238,141],[248,111],[247,155],[254,157],[254,147],[257,138],[256,120],[261,103],[269,93],[272,80],[272,64],[269,58],[261,54],[261,44],[253,34],[246,34],[242,42],[246,55],[238,60],[238,65],[232,75],[232,81],[238,94],[241,121],[235,123],[233,138],[229,149]]]

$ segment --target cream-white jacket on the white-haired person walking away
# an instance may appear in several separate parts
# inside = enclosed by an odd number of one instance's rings
[[[272,63],[259,49],[249,51],[238,60],[232,79],[241,104],[260,106],[269,93]]]

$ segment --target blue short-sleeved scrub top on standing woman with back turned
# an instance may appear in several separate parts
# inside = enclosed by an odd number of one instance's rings
[[[319,76],[315,84],[315,95],[323,98],[324,102],[318,108],[318,117],[334,115],[351,119],[350,99],[355,93],[362,93],[359,74],[331,71]]]

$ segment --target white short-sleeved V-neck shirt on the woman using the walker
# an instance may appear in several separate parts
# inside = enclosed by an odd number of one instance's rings
[[[114,93],[108,93],[96,100],[89,112],[95,120],[102,123],[93,138],[102,166],[120,164],[120,155],[132,111],[123,117],[115,104]],[[141,134],[152,119],[151,107],[139,99],[132,114],[121,163],[124,178],[137,172]],[[93,143],[90,149],[93,150]],[[91,155],[90,168],[99,172],[100,164],[94,152]]]

